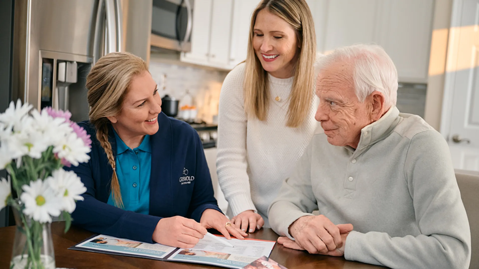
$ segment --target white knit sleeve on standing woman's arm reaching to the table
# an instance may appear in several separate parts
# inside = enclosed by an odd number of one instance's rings
[[[246,210],[256,211],[247,173],[243,77],[244,64],[229,72],[221,87],[218,108],[218,182],[234,216]]]

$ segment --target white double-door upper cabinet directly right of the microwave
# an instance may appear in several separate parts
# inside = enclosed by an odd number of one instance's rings
[[[195,0],[191,52],[181,60],[228,69],[233,0]]]

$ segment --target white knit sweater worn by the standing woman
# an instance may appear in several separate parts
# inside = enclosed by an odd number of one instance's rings
[[[267,119],[248,117],[244,110],[244,69],[242,63],[231,70],[221,88],[217,175],[228,201],[228,216],[255,210],[263,217],[265,227],[269,227],[268,206],[319,126],[314,119],[318,98],[313,97],[301,126],[286,127],[288,96],[294,78],[268,75],[271,103]],[[317,73],[316,70],[315,76]],[[275,100],[277,96],[280,101]]]

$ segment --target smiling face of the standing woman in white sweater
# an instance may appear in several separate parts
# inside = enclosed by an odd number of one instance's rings
[[[297,62],[297,35],[288,22],[266,9],[253,26],[253,48],[261,65],[275,78],[290,78]]]

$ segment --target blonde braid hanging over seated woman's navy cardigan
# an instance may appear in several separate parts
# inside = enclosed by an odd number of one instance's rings
[[[120,191],[120,182],[118,181],[118,177],[116,176],[116,162],[113,157],[113,150],[110,141],[108,141],[108,125],[103,124],[96,132],[96,138],[100,142],[100,145],[103,147],[106,153],[106,157],[108,157],[108,162],[113,168],[113,175],[112,175],[112,183],[111,183],[111,190],[112,190],[112,197],[115,202],[115,206],[119,208],[123,208],[123,201],[121,199],[121,191]]]

